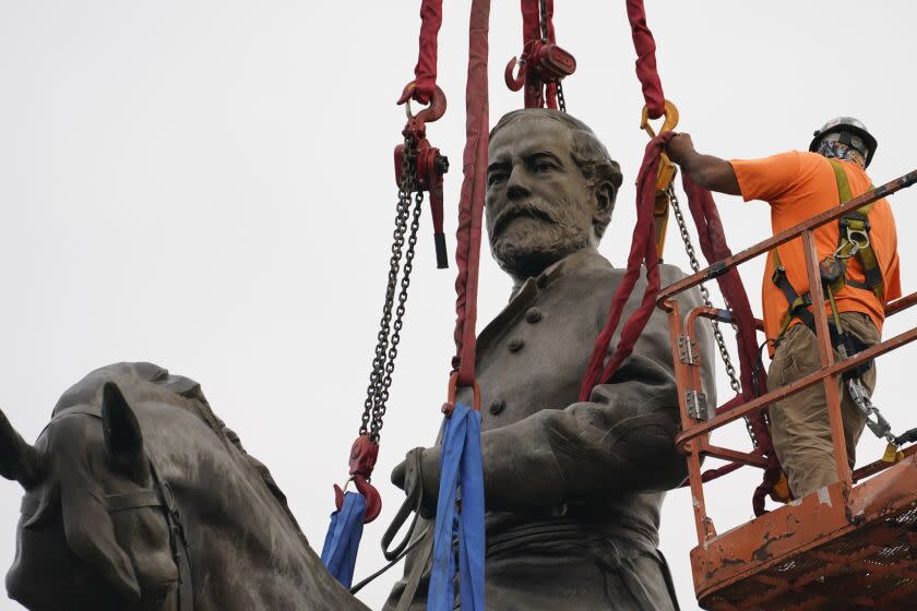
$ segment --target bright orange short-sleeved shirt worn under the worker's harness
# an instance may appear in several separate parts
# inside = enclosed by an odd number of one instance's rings
[[[837,181],[831,163],[815,153],[793,151],[765,157],[763,159],[734,159],[730,161],[736,171],[742,199],[763,200],[771,206],[771,226],[774,235],[785,231],[819,213],[825,212],[841,201],[837,192]],[[866,172],[856,164],[842,161],[850,192],[854,197],[869,191],[871,181]],[[891,301],[901,297],[901,278],[898,274],[897,235],[895,219],[892,216],[889,202],[878,200],[869,212],[869,239],[872,250],[879,261],[879,268],[884,280],[885,299]],[[839,228],[837,221],[822,225],[814,231],[819,261],[829,256],[837,249]],[[786,267],[787,278],[796,292],[802,295],[809,290],[806,259],[802,252],[802,238],[796,238],[781,247],[781,263]],[[862,265],[859,259],[847,262],[847,278],[864,281]],[[776,338],[783,325],[784,316],[789,309],[786,297],[773,281],[774,256],[767,254],[764,266],[764,280],[761,286],[761,298],[764,311],[764,332],[769,340]],[[845,285],[835,296],[837,310],[841,312],[862,312],[868,314],[882,331],[885,320],[884,303],[880,303],[876,295],[869,289]],[[831,315],[830,304],[825,304],[825,313]],[[830,319],[829,319],[830,320]],[[799,319],[791,324],[799,323]],[[774,352],[773,342],[769,342],[771,355]]]

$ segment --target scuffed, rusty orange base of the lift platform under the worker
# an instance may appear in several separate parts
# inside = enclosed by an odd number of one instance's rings
[[[713,611],[908,609],[917,594],[917,456],[842,482],[714,537],[691,552]],[[753,541],[753,544],[749,544]]]

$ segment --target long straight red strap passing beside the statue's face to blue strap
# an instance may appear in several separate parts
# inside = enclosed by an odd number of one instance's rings
[[[477,321],[480,230],[487,180],[488,89],[487,31],[490,0],[473,0],[468,25],[468,82],[465,88],[465,153],[462,170],[462,196],[458,202],[455,263],[455,357],[452,367],[458,372],[460,386],[475,383],[475,323]]]

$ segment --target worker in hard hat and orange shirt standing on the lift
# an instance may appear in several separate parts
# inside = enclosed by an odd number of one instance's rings
[[[762,200],[771,206],[773,232],[779,233],[871,189],[866,168],[876,139],[850,117],[839,117],[814,132],[808,152],[793,151],[763,159],[726,161],[694,149],[691,136],[676,135],[669,158],[700,187]],[[826,297],[825,314],[835,359],[880,342],[884,304],[901,296],[897,238],[885,200],[848,213],[814,231]],[[821,369],[814,313],[808,295],[802,239],[767,255],[762,285],[764,331],[771,352],[767,390]],[[867,423],[864,409],[876,386],[868,362],[844,375],[841,411],[849,468]],[[837,481],[824,386],[813,384],[771,405],[771,438],[786,474],[789,492],[801,498]],[[878,432],[872,424],[870,428]],[[890,433],[886,433],[890,436]]]

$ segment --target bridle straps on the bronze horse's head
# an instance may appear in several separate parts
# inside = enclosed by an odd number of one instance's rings
[[[102,409],[94,407],[70,408],[51,418],[51,422],[64,416],[82,414],[102,420]],[[50,426],[50,422],[48,423]],[[146,454],[150,464],[152,487],[136,492],[124,492],[121,494],[106,494],[108,513],[139,510],[143,507],[160,507],[166,517],[166,525],[169,529],[169,548],[172,560],[178,567],[178,596],[171,611],[194,611],[194,590],[191,582],[191,554],[188,550],[188,539],[184,536],[184,527],[181,524],[181,515],[175,502],[171,486],[159,477],[156,464],[150,454]],[[167,610],[164,610],[167,611]]]

